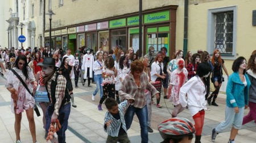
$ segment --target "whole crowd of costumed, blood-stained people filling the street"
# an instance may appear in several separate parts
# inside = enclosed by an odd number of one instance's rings
[[[242,124],[256,119],[256,85],[252,82],[256,79],[256,51],[251,54],[248,66],[243,57],[234,60],[230,76],[218,50],[213,51],[212,58],[203,50],[197,50],[195,54],[188,51],[185,57],[182,50],[177,50],[171,60],[166,47],[156,52],[152,46],[148,48],[148,54],[141,58],[138,53],[134,53],[132,47],[127,52],[119,47],[108,52],[99,47],[94,54],[92,49],[83,46],[74,55],[71,53],[71,49],[58,49],[49,53],[48,47],[35,47],[32,51],[30,47],[26,50],[23,47],[1,50],[1,59],[6,63],[4,67],[0,61],[1,70],[10,70],[6,88],[11,92],[12,109],[15,112],[16,142],[20,142],[20,120],[24,110],[30,121],[33,142],[36,142],[33,112],[36,101],[31,93],[36,94],[38,91],[48,94],[49,99],[49,102],[39,102],[43,110],[45,138],[52,136],[51,125],[60,123],[58,141],[65,142],[71,105],[77,107],[72,79],[75,81],[75,88],[78,88],[79,77],[82,86],[86,80],[88,87],[92,87],[91,81],[96,84],[92,101],[100,90],[98,110],[103,111],[103,103],[108,109],[104,123],[104,129],[109,135],[107,142],[130,142],[127,130],[131,127],[134,114],[138,116],[141,126],[141,142],[148,142],[148,132],[153,132],[150,123],[151,108],[152,105],[162,108],[161,93],[162,98],[174,105],[170,115],[172,119],[185,120],[177,118],[177,114],[185,108],[191,112],[195,127],[188,122],[190,132],[184,135],[188,137],[186,140],[192,140],[191,135],[195,133],[195,142],[201,142],[205,110],[210,110],[209,106],[218,106],[216,99],[224,81],[223,70],[228,76],[226,118],[213,129],[212,141],[214,142],[218,133],[232,124],[229,142],[234,142]],[[210,81],[214,86],[211,94]],[[243,118],[243,112],[248,106],[250,112]],[[168,138],[162,132],[164,125],[172,124],[170,122],[171,119],[159,124],[164,142],[181,141],[180,138],[176,141],[177,138],[172,138],[173,136]]]

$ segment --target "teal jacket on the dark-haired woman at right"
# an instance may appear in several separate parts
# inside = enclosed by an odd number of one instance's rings
[[[226,86],[226,106],[228,107],[244,107],[248,105],[249,88],[251,82],[245,74],[247,85],[245,86],[238,72],[233,72],[229,76],[228,85]]]

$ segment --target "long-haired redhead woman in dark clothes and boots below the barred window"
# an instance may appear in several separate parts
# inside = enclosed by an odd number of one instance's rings
[[[218,92],[220,90],[222,81],[224,81],[224,78],[222,76],[223,75],[222,68],[225,71],[228,78],[229,78],[229,73],[226,70],[226,67],[224,65],[224,60],[221,59],[220,51],[214,50],[213,56],[212,56],[212,64],[214,67],[214,70],[212,72],[212,83],[214,85],[215,90],[212,92],[210,97],[207,98],[207,103],[208,105],[218,106],[215,101],[218,96]],[[212,100],[212,97],[213,97],[213,100]],[[210,101],[212,101],[212,103]]]

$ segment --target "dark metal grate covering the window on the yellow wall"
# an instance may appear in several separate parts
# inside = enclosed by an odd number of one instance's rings
[[[233,11],[215,14],[215,49],[223,54],[233,52]]]

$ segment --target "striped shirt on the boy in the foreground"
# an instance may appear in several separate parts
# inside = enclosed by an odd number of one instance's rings
[[[119,103],[118,113],[119,113],[120,119],[118,120],[115,119],[109,111],[106,112],[105,119],[104,119],[104,131],[107,132],[109,136],[118,137],[121,124],[122,124],[123,130],[125,130],[125,132],[127,133],[124,111],[127,109],[128,105],[129,103],[127,100],[123,101],[122,103]],[[109,127],[106,127],[105,124],[109,120],[112,120],[112,123],[109,125]]]

